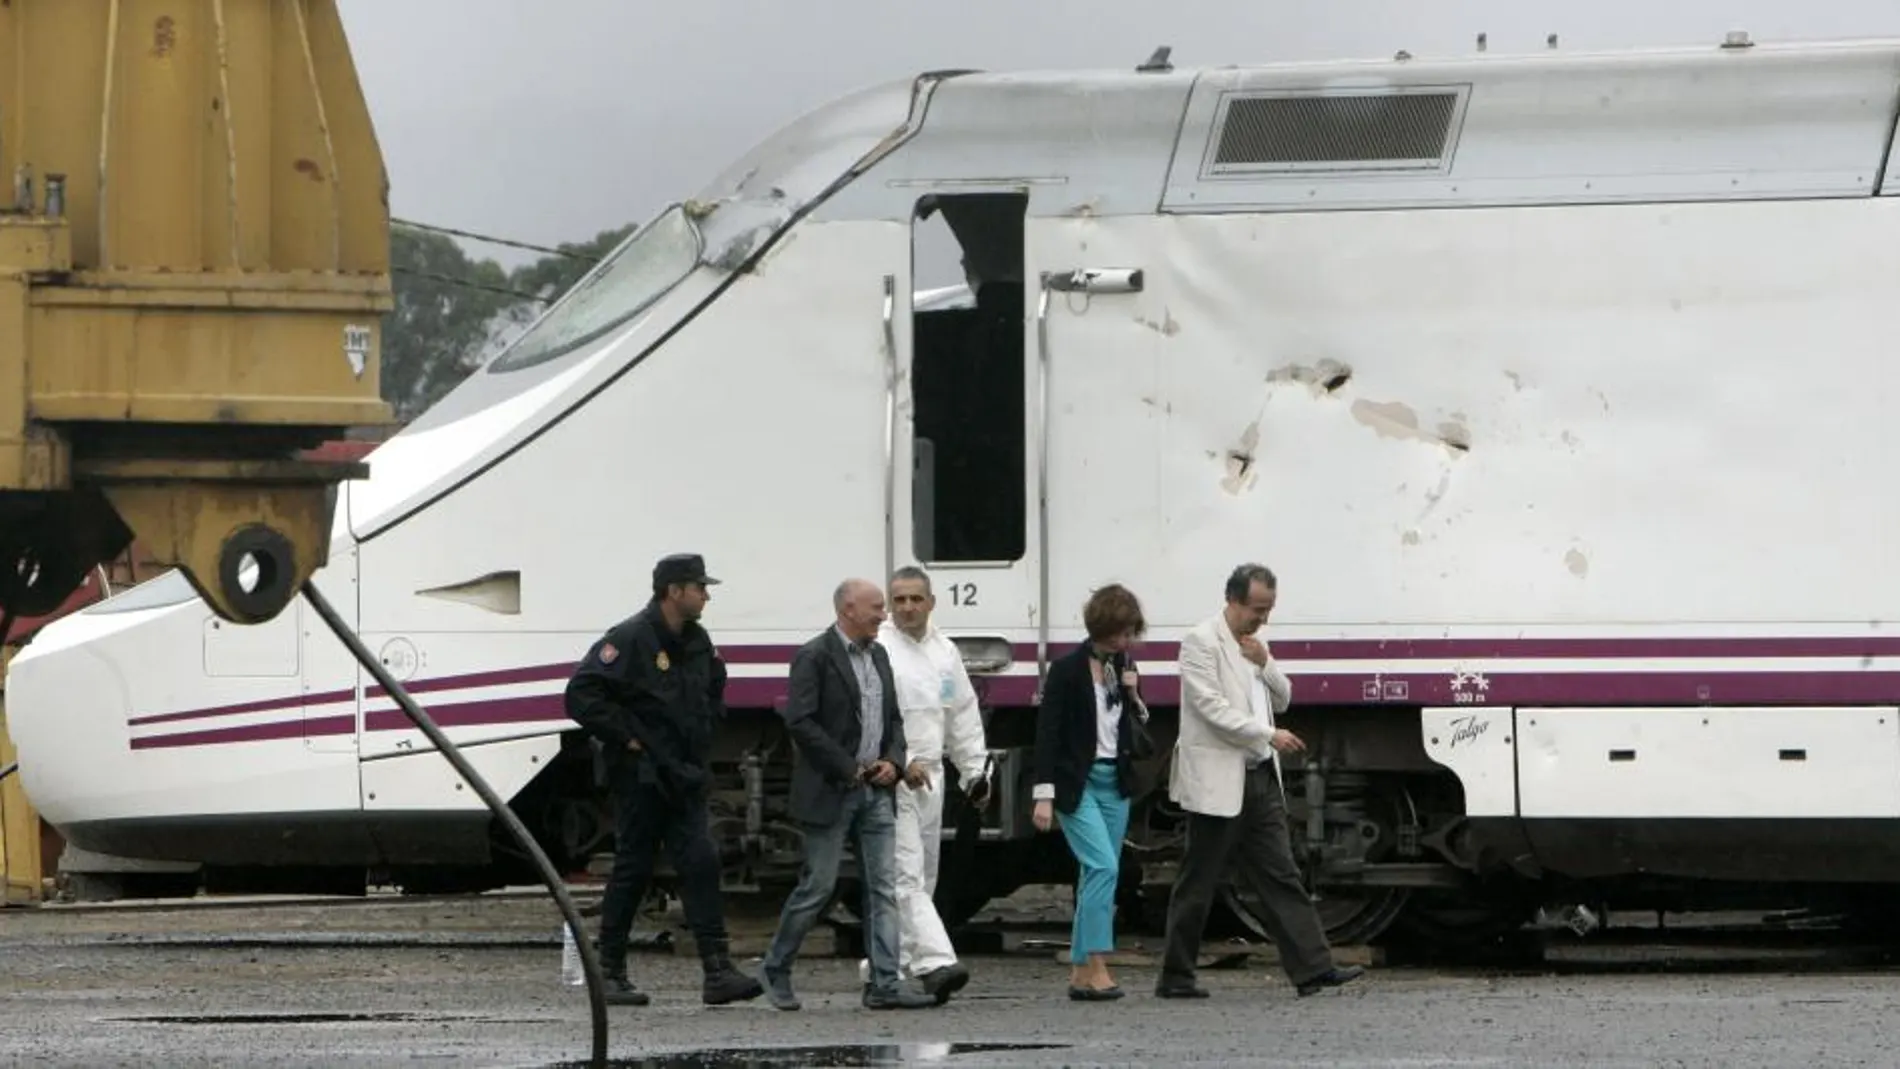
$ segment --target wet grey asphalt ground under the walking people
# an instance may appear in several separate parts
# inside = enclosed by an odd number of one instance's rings
[[[750,966],[764,925],[733,930]],[[0,1063],[578,1065],[589,1010],[560,984],[559,932],[534,894],[0,911]],[[1070,1003],[1054,951],[1018,932],[965,957],[975,978],[948,1006],[872,1012],[855,957],[819,936],[796,972],[804,1010],[785,1014],[764,999],[699,1004],[688,940],[635,955],[654,1004],[610,1006],[610,1054],[656,1067],[1900,1065],[1887,953],[1801,934],[1556,942],[1531,965],[1376,965],[1311,999],[1250,959],[1203,970],[1212,997],[1182,1003],[1151,995],[1155,940],[1130,936],[1129,995]]]

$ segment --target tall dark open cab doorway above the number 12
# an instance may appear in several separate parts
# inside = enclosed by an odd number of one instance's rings
[[[912,553],[1020,560],[1028,541],[1026,194],[927,196],[912,226]],[[961,285],[960,285],[961,283]]]

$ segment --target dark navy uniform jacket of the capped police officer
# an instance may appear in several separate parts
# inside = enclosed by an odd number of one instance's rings
[[[712,727],[726,716],[726,663],[694,621],[667,628],[648,602],[587,649],[566,689],[568,718],[606,750],[610,777],[635,773],[667,794],[705,786]],[[627,752],[638,739],[642,752]]]

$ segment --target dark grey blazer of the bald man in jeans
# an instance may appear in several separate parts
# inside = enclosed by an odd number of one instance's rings
[[[904,773],[904,718],[897,710],[897,680],[891,678],[891,655],[884,646],[870,644],[870,661],[884,684],[884,742],[880,760],[891,761],[899,777]],[[844,807],[844,796],[855,788],[859,731],[857,672],[838,628],[826,627],[792,655],[790,695],[785,699],[785,727],[792,735],[790,813],[806,824],[832,824]],[[897,782],[889,788],[889,803],[897,805]]]

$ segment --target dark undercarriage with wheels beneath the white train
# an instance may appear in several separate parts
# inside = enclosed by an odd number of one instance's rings
[[[973,815],[956,773],[944,807],[937,906],[952,928],[1030,885],[1072,885],[1075,864],[1058,834],[1030,824],[1032,710],[990,710],[996,797]],[[1894,928],[1885,896],[1900,873],[1900,828],[1889,822],[1645,820],[1642,826],[1552,826],[1465,816],[1457,778],[1434,765],[1417,739],[1417,716],[1393,708],[1294,710],[1282,718],[1307,752],[1286,761],[1284,786],[1296,860],[1336,946],[1383,944],[1417,953],[1493,944],[1530,923],[1539,908],[1575,908],[1598,917],[1615,910],[1811,910],[1870,928]],[[1163,758],[1142,771],[1142,794],[1123,843],[1123,928],[1159,930],[1184,845],[1186,818],[1167,797],[1167,744],[1176,710],[1155,708]],[[724,891],[735,913],[771,913],[798,879],[802,834],[785,813],[790,741],[766,710],[735,710],[714,754],[712,834],[724,860]],[[1303,758],[1303,760],[1302,760]],[[591,864],[604,873],[614,849],[606,792],[580,733],[562,737],[560,756],[511,801],[560,872]],[[408,894],[481,892],[532,883],[526,856],[486,815],[424,835],[429,853],[384,837],[386,864],[321,866],[207,864],[207,891],[293,891],[361,894],[390,883]],[[1738,843],[1748,843],[1738,849]],[[401,858],[395,862],[395,858]],[[395,864],[388,864],[395,862]],[[859,887],[846,860],[832,917],[851,923]],[[1763,873],[1776,873],[1763,879]],[[671,866],[657,864],[656,894],[671,894]],[[1256,896],[1231,881],[1210,934],[1267,938]]]

